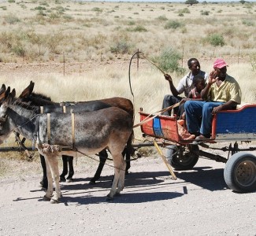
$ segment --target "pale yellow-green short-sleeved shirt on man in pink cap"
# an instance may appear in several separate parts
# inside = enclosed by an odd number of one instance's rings
[[[241,89],[239,84],[232,76],[226,75],[225,80],[221,83],[220,87],[217,87],[216,83],[213,83],[209,90],[210,101],[236,101],[237,104],[241,103]]]

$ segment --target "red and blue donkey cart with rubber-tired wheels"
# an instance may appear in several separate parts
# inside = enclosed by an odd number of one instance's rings
[[[176,116],[153,117],[143,109],[140,109],[139,116],[143,137],[161,140],[166,147],[166,160],[175,170],[189,170],[199,157],[204,157],[225,163],[224,181],[230,189],[239,193],[256,190],[256,157],[250,153],[256,147],[240,149],[238,145],[238,142],[251,144],[256,141],[256,104],[239,105],[236,110],[217,112],[213,116],[211,138],[200,141],[181,138]],[[148,119],[150,116],[152,119]],[[143,122],[147,119],[147,122]],[[230,145],[220,148],[224,142]],[[211,147],[213,143],[217,143],[218,147]],[[220,149],[228,152],[228,157],[203,149]]]

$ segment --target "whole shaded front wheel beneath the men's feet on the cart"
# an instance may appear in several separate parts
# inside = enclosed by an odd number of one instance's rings
[[[191,153],[191,151],[198,150],[198,146],[188,145],[187,147],[188,150],[185,151],[184,146],[167,146],[166,159],[176,171],[191,170],[198,162],[198,155]]]

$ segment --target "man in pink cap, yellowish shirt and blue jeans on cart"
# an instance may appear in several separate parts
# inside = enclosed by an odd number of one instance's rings
[[[187,131],[198,136],[196,139],[210,138],[213,114],[236,109],[236,105],[241,103],[239,84],[232,76],[228,76],[227,66],[223,59],[214,61],[209,82],[201,91],[205,101],[186,101],[184,105]]]

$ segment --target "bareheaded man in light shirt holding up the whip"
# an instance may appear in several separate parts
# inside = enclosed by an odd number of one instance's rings
[[[178,84],[178,87],[174,87],[173,85],[173,79],[168,74],[165,74],[165,79],[169,82],[169,87],[173,95],[165,95],[162,109],[165,109],[166,107],[169,107],[171,105],[174,105],[182,100],[182,98],[179,96],[180,94],[184,93],[185,97],[187,98],[188,93],[194,88],[193,78],[196,75],[202,76],[205,79],[207,78],[206,72],[202,72],[200,70],[200,64],[199,61],[196,58],[191,58],[187,61],[187,66],[191,70],[184,78],[180,79],[180,83]],[[173,109],[173,114],[180,116],[180,113],[178,112],[179,108],[176,107]],[[165,116],[171,116],[172,110],[163,112],[162,114]]]

